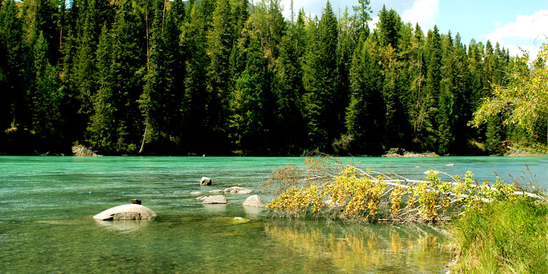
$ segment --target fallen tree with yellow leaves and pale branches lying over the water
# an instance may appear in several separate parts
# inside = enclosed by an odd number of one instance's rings
[[[273,173],[268,186],[276,197],[266,207],[276,214],[357,222],[449,221],[482,203],[540,198],[498,176],[495,184],[477,184],[470,171],[464,178],[429,171],[425,179],[416,180],[361,169],[328,156],[307,158],[304,168],[284,166]]]

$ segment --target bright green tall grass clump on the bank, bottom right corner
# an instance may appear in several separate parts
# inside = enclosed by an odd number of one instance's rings
[[[451,221],[451,273],[548,273],[548,201],[516,199],[469,208]]]

